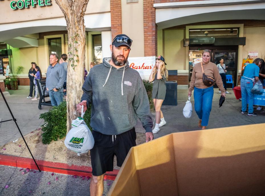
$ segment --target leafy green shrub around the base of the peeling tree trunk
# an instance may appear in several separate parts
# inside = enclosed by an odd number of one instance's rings
[[[85,112],[85,123],[89,127],[91,110]],[[66,101],[63,101],[60,105],[52,107],[49,112],[40,114],[40,118],[44,119],[42,128],[42,143],[49,144],[51,141],[57,141],[66,136]]]

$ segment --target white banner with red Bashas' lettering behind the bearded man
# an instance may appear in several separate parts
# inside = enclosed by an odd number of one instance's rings
[[[152,68],[156,64],[156,57],[129,57],[129,66],[139,72],[143,80],[149,80]]]

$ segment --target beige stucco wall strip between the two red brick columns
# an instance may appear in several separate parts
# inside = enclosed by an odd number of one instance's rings
[[[130,57],[144,57],[143,0],[137,3],[121,1],[122,33],[132,41]]]

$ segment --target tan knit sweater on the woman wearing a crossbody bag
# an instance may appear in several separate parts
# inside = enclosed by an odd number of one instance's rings
[[[216,66],[216,64],[212,62],[208,62],[206,64],[203,64],[203,70],[205,75],[213,77],[215,79],[215,83],[221,90],[221,93],[225,93],[225,88],[223,86],[223,81],[222,78],[219,74],[219,70]],[[202,69],[201,69],[201,63],[196,63],[193,67],[192,75],[191,75],[191,80],[189,84],[189,91],[192,91],[194,89],[194,86],[196,88],[208,88],[208,86],[205,86],[203,84],[202,80]]]

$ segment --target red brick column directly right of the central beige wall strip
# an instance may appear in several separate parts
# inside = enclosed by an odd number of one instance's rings
[[[144,0],[144,56],[157,56],[157,26],[154,0]]]

